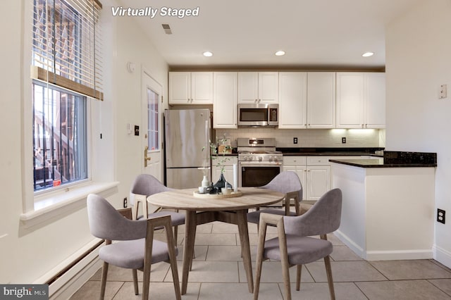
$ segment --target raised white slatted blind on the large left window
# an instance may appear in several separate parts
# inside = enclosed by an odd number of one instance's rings
[[[101,3],[34,2],[32,78],[103,100]]]

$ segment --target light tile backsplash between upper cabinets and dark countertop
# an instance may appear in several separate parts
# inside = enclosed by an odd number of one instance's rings
[[[231,139],[232,146],[236,146],[237,137],[275,137],[278,147],[385,147],[385,130],[378,129],[217,129],[216,139],[222,137]],[[294,137],[297,137],[297,144],[293,144]],[[342,144],[342,137],[346,137],[346,144]]]

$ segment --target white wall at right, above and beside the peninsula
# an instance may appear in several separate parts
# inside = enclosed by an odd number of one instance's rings
[[[386,149],[437,153],[434,214],[451,215],[451,1],[418,1],[385,34]],[[436,259],[451,267],[451,218],[434,225]]]

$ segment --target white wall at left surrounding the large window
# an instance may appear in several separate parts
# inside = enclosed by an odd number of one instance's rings
[[[87,224],[86,208],[63,213],[44,224],[27,230],[20,223],[23,213],[25,190],[32,186],[26,178],[23,157],[32,158],[32,149],[26,149],[25,140],[32,138],[31,128],[24,126],[24,107],[29,105],[30,61],[23,62],[26,51],[22,37],[29,30],[30,18],[25,12],[32,1],[6,1],[0,25],[4,30],[2,39],[7,41],[0,48],[4,59],[1,73],[0,96],[0,282],[31,283],[42,277],[71,254],[92,240]],[[107,25],[105,60],[105,101],[92,103],[93,173],[103,181],[120,181],[118,194],[109,197],[114,206],[122,205],[133,178],[140,173],[142,149],[138,137],[125,132],[125,124],[141,125],[141,67],[150,70],[156,80],[167,90],[168,66],[156,52],[140,29],[126,18],[113,18],[110,4],[103,0]],[[130,34],[132,32],[132,34]],[[24,52],[25,51],[25,52]],[[24,56],[26,57],[26,55]],[[125,69],[125,63],[137,65],[135,73]],[[163,94],[167,99],[166,92]],[[99,112],[101,109],[101,113]],[[99,139],[102,132],[104,138]],[[26,142],[30,144],[30,142]]]

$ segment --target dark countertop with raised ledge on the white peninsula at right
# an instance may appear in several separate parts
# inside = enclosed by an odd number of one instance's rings
[[[424,152],[384,151],[383,158],[330,159],[331,163],[360,168],[428,168],[437,166],[437,154]]]

